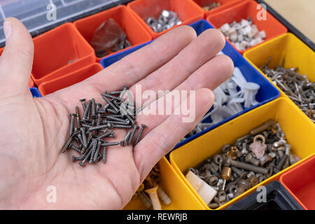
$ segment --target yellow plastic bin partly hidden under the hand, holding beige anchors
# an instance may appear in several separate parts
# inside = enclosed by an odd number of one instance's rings
[[[200,200],[190,191],[186,183],[183,182],[165,157],[158,162],[158,165],[161,173],[160,186],[172,199],[172,203],[169,206],[161,202],[163,210],[204,210],[204,206]],[[138,197],[135,197],[124,209],[145,210],[146,207],[144,207]]]

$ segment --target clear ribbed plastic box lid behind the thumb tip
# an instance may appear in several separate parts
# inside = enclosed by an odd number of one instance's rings
[[[48,31],[128,0],[0,0],[0,46],[5,45],[3,21],[18,18],[31,36]]]

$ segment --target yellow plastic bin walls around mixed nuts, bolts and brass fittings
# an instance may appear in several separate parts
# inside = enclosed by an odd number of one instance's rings
[[[169,156],[172,166],[179,176],[181,176],[181,179],[185,181],[190,190],[192,190],[200,202],[202,202],[204,208],[209,209],[207,204],[202,201],[202,198],[197,194],[193,187],[190,186],[190,183],[188,183],[185,178],[184,174],[186,170],[189,167],[196,167],[203,160],[216,153],[220,153],[221,146],[224,144],[235,144],[235,141],[239,137],[248,134],[254,127],[261,125],[269,119],[274,119],[280,124],[281,129],[286,134],[286,140],[292,146],[292,153],[302,159],[300,162],[306,160],[315,152],[315,126],[311,120],[306,116],[303,116],[303,112],[300,111],[297,106],[291,104],[288,99],[283,97],[260,106],[253,111],[244,113],[238,118],[230,120],[230,122],[216,127],[216,129],[211,130],[207,134],[204,134],[201,137],[190,141],[188,144],[177,148],[175,151],[172,151]],[[297,162],[297,164],[300,162]],[[258,186],[279,179],[279,175],[286,172],[290,167],[271,176]],[[253,190],[258,186],[247,190],[242,195],[239,195],[239,197],[236,197],[218,209],[225,209],[230,206],[230,204],[237,202],[249,193],[253,193]]]

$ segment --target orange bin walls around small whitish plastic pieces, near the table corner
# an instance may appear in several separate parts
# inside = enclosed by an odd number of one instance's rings
[[[207,20],[211,23],[211,25],[214,26],[214,28],[218,29],[227,22],[230,24],[233,21],[239,22],[241,21],[241,19],[247,19],[248,17],[250,17],[253,19],[253,24],[258,27],[259,31],[265,30],[265,41],[269,41],[270,39],[284,34],[288,31],[288,29],[286,29],[286,27],[284,27],[281,22],[276,20],[276,18],[274,18],[267,11],[265,11],[266,20],[258,20],[257,15],[262,9],[257,6],[258,3],[255,1],[244,1],[243,3],[238,3],[236,6],[232,6],[228,9],[221,10],[218,13],[214,13],[213,15],[209,15],[207,17]],[[262,41],[262,43],[264,43],[265,41]],[[237,49],[235,45],[232,44],[232,46]],[[251,48],[248,48],[246,50],[249,50]],[[243,54],[246,50],[237,49],[237,51],[241,54]]]

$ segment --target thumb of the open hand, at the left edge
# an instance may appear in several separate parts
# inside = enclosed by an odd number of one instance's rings
[[[15,18],[7,18],[3,23],[6,47],[0,57],[1,89],[25,93],[29,88],[29,78],[33,64],[34,44],[29,31]]]

